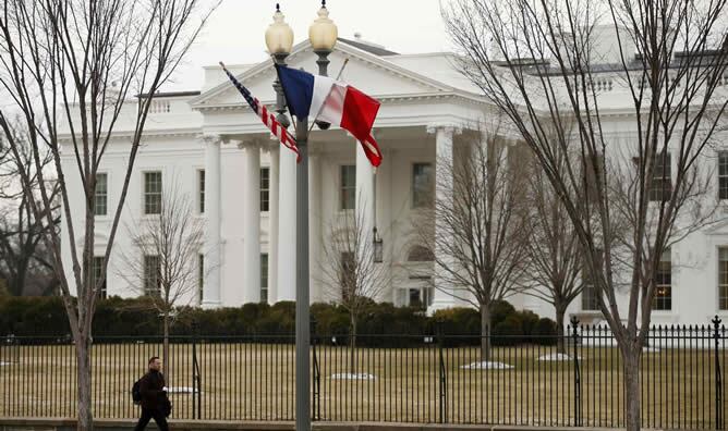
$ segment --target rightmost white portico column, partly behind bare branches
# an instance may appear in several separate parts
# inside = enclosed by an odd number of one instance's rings
[[[453,127],[451,126],[436,126],[428,127],[428,133],[435,133],[435,200],[436,206],[447,204],[452,200],[452,135]],[[450,260],[446,256],[446,250],[442,249],[441,238],[452,237],[447,229],[441,226],[446,223],[438,220],[441,214],[435,212],[435,235],[437,241],[435,241],[435,256],[436,260]],[[448,283],[448,278],[445,270],[437,263],[435,263],[435,292],[433,297],[433,304],[427,309],[428,313],[433,313],[442,308],[453,307],[456,305],[456,299],[449,292],[452,292],[453,286]]]

